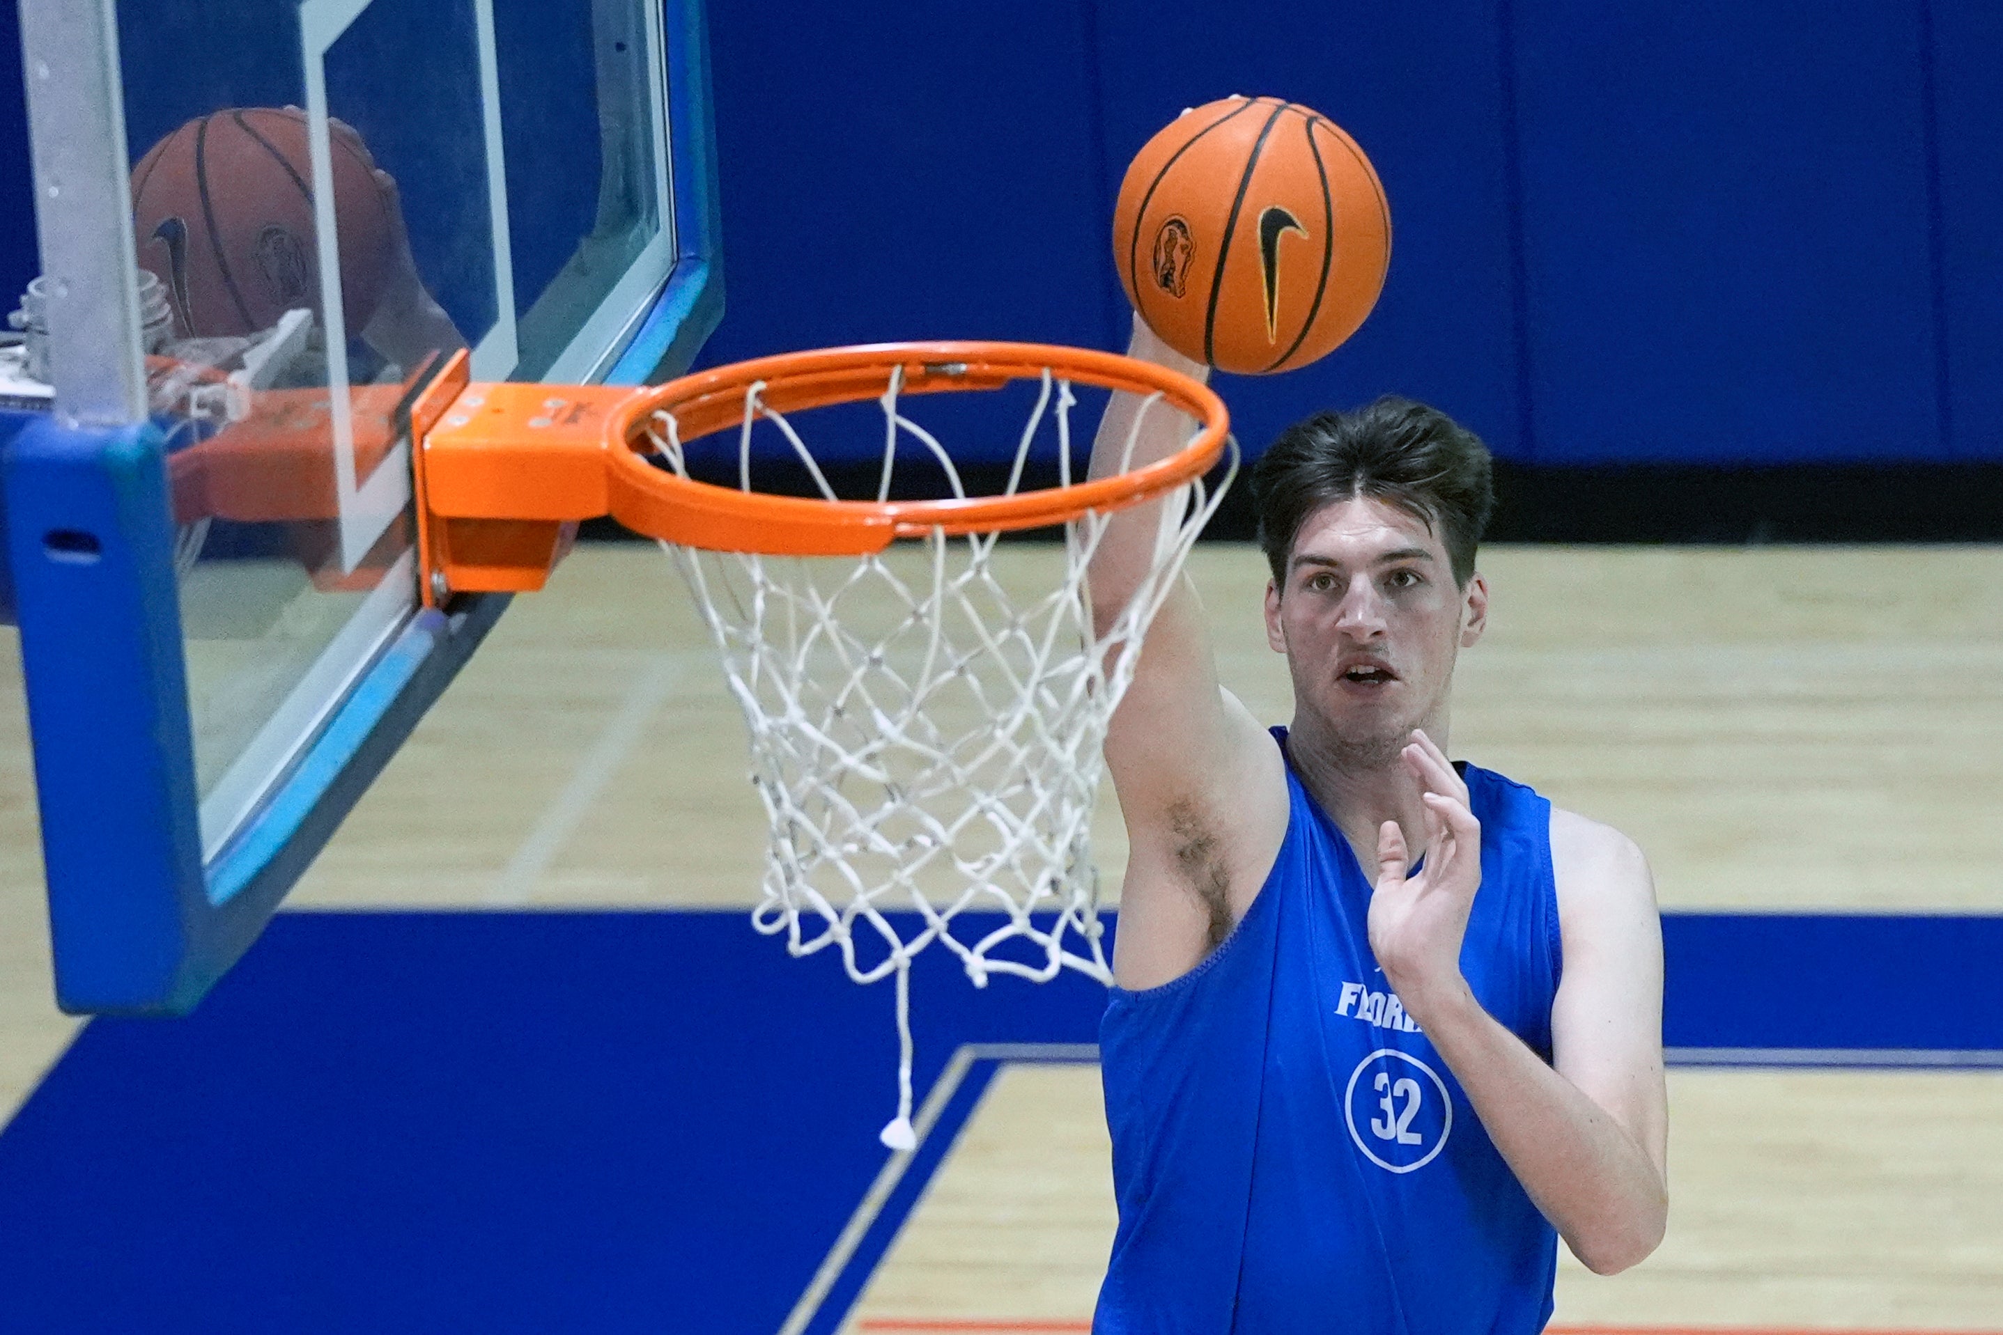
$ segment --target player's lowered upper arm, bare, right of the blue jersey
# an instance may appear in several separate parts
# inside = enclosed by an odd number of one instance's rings
[[[1620,831],[1550,813],[1564,971],[1552,1065],[1606,1111],[1666,1185],[1662,923],[1648,863]]]

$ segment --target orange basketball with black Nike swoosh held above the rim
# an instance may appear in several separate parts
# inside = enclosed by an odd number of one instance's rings
[[[1114,262],[1148,328],[1184,356],[1240,374],[1294,370],[1376,304],[1390,206],[1370,158],[1326,116],[1224,98],[1136,154]]]

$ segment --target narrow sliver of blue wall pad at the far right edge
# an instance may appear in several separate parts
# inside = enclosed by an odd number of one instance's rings
[[[2003,458],[2003,6],[1931,0],[1941,136],[1947,446]]]

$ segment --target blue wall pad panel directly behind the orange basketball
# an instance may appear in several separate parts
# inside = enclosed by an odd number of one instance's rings
[[[1228,10],[1098,0],[1098,10],[1114,190],[1176,112],[1234,92],[1324,112],[1384,180],[1390,274],[1362,330],[1316,366],[1220,378],[1246,448],[1318,408],[1402,392],[1452,412],[1498,454],[1520,454],[1494,0]],[[1098,212],[1104,232],[1110,196]]]

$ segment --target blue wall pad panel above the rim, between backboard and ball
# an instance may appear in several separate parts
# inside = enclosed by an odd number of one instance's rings
[[[1112,338],[1082,0],[711,6],[729,300],[703,352]]]

